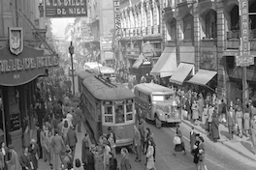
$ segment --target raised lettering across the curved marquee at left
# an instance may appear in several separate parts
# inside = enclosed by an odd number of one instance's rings
[[[0,60],[0,73],[49,68],[49,67],[55,67],[58,65],[59,65],[59,60],[57,56]],[[15,79],[19,78],[19,75],[15,74],[14,78]]]

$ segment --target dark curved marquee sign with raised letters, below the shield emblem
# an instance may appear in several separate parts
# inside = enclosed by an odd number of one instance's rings
[[[8,48],[0,49],[0,85],[16,86],[27,83],[46,69],[59,66],[59,57],[46,55],[44,50],[24,46],[23,52],[13,55]]]

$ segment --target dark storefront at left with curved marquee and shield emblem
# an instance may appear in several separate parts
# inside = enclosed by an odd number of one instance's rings
[[[23,46],[22,39],[15,40],[0,48],[0,140],[20,152],[23,128],[33,121],[36,78],[57,67],[59,59],[45,50]]]

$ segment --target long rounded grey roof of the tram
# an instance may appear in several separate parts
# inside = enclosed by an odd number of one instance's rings
[[[102,100],[121,100],[135,98],[129,89],[122,86],[110,86],[95,76],[89,76],[82,81],[83,86],[96,99]]]

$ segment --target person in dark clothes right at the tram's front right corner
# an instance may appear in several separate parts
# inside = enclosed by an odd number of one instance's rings
[[[134,126],[134,146],[136,151],[135,161],[142,161],[142,137],[139,129]]]

